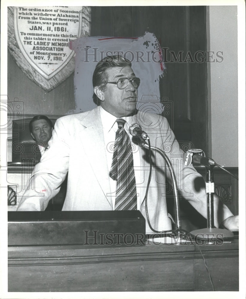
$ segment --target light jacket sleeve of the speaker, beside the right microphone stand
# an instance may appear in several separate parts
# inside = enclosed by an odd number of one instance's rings
[[[180,149],[167,120],[164,118],[162,126],[162,144],[159,147],[162,148],[169,156],[172,162],[176,180],[178,184],[179,194],[187,199],[190,204],[205,218],[207,218],[207,196],[205,191],[205,182],[203,177],[197,173],[194,167],[191,165],[186,167],[183,162],[184,152]],[[158,147],[158,145],[157,145]],[[167,170],[167,176],[170,178],[169,171]],[[233,214],[224,205],[218,196],[214,195],[214,223],[216,227],[219,227],[221,222],[230,217]]]

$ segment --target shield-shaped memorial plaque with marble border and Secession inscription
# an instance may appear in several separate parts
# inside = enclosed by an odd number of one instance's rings
[[[71,40],[90,35],[90,7],[8,7],[8,48],[25,75],[51,91],[74,71]]]

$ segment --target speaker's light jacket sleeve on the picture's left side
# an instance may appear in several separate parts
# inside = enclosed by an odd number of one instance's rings
[[[60,190],[69,164],[70,133],[66,118],[55,123],[49,149],[43,154],[29,178],[19,202],[18,211],[43,211]]]

